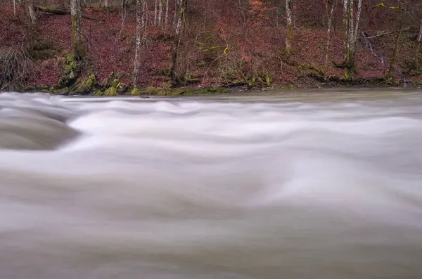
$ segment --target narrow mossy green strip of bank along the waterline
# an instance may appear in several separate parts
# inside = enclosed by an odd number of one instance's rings
[[[234,86],[216,86],[216,87],[203,87],[203,86],[190,86],[181,88],[156,88],[146,87],[134,89],[133,87],[126,86],[122,82],[115,81],[113,85],[103,91],[101,91],[101,85],[93,84],[92,88],[84,93],[77,91],[80,84],[77,84],[73,89],[55,89],[46,87],[32,87],[27,88],[22,92],[41,92],[51,93],[60,96],[215,96],[215,95],[231,95],[231,96],[257,96],[257,95],[271,95],[274,93],[283,95],[307,95],[309,93],[314,94],[319,90],[324,92],[343,92],[343,91],[388,91],[396,90],[414,90],[421,89],[422,82],[391,82],[387,79],[374,79],[376,82],[369,82],[368,79],[365,81],[343,81],[343,82],[319,82],[313,84],[289,84],[286,86],[272,85],[263,87],[249,87],[247,85],[234,85]]]

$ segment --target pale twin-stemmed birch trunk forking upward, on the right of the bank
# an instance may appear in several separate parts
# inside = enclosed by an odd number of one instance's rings
[[[354,12],[354,0],[343,0],[343,25],[345,31],[345,78],[354,74],[354,60],[357,48],[357,32],[362,11],[362,0],[357,1],[357,11]]]

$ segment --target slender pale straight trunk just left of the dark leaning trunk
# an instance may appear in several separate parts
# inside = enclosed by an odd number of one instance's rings
[[[136,86],[139,76],[139,67],[141,65],[141,48],[145,36],[145,14],[146,3],[145,0],[136,0],[136,40],[135,40],[135,59],[134,59],[134,81],[133,85]]]

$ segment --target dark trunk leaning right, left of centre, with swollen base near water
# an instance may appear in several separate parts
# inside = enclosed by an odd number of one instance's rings
[[[174,27],[174,41],[172,46],[172,67],[170,69],[170,77],[172,78],[172,84],[174,86],[181,86],[185,82],[186,67],[184,65],[186,65],[186,63],[183,58],[179,58],[180,46],[184,41],[182,38],[184,37],[185,31],[186,0],[179,0],[179,12],[177,15],[177,24]]]

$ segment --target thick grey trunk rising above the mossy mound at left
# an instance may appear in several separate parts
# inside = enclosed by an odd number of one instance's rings
[[[72,52],[75,60],[82,60],[85,56],[85,47],[82,37],[81,0],[70,0],[70,15],[72,17]]]

